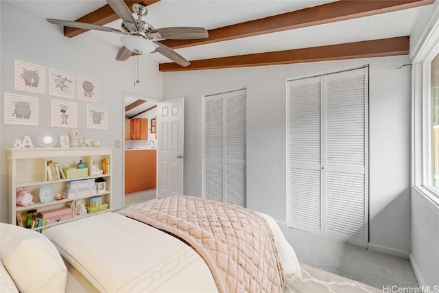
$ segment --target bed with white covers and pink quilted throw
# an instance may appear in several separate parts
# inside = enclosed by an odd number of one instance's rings
[[[190,196],[52,226],[40,237],[67,265],[65,292],[282,292],[285,277],[300,277],[270,216]]]

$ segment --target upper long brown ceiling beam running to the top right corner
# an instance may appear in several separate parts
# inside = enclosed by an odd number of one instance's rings
[[[429,5],[434,0],[341,0],[284,14],[246,21],[209,30],[209,38],[199,40],[162,40],[173,49],[246,38],[285,30],[294,30],[335,21],[346,21],[364,16]]]

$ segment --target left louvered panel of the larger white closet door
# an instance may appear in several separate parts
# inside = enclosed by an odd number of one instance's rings
[[[287,226],[320,233],[321,78],[287,84]]]

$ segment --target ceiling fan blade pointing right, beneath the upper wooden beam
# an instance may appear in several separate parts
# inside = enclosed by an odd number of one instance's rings
[[[151,38],[168,38],[173,40],[193,40],[209,38],[209,32],[204,27],[162,27],[152,30],[148,36]]]

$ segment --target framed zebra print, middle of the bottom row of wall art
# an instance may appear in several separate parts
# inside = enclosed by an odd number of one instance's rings
[[[78,104],[75,102],[51,100],[51,123],[53,127],[78,127]]]

